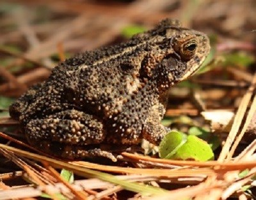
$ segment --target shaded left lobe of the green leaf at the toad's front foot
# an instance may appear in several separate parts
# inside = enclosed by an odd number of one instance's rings
[[[170,159],[173,154],[176,154],[180,146],[186,143],[186,136],[178,131],[171,131],[166,136],[159,145],[159,155],[162,159]]]

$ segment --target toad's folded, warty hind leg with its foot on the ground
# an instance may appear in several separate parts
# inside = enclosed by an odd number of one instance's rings
[[[106,137],[102,122],[81,111],[66,110],[30,120],[25,133],[31,145],[47,154],[66,159],[108,157],[115,160],[111,153],[97,148]]]

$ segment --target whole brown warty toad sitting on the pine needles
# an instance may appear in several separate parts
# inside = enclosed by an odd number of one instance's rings
[[[104,144],[159,144],[167,91],[209,53],[202,32],[166,19],[126,43],[67,59],[10,106],[29,143],[67,159],[116,158]]]

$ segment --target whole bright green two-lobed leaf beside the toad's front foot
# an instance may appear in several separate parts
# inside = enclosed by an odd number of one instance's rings
[[[164,159],[209,161],[214,159],[211,146],[204,140],[181,132],[172,131],[159,145],[159,156]]]

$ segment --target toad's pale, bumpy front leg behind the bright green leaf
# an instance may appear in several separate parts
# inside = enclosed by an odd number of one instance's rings
[[[143,138],[155,145],[159,145],[163,137],[170,131],[168,127],[161,124],[164,112],[165,109],[161,103],[153,106],[143,127]]]

